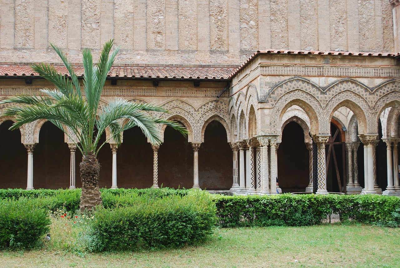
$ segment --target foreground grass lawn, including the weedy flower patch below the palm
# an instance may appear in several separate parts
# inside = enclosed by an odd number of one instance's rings
[[[76,228],[57,222],[43,248],[0,251],[0,267],[400,267],[400,228],[326,224],[218,229],[201,246],[84,254],[67,238]]]

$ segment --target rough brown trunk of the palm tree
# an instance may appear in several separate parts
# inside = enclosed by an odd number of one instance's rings
[[[100,163],[93,152],[82,157],[80,163],[80,179],[82,181],[82,195],[80,197],[80,211],[88,212],[98,204],[102,204],[99,191]]]

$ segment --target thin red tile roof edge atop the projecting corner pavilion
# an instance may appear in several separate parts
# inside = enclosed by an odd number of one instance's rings
[[[382,56],[396,57],[400,53],[378,53],[378,52],[347,52],[347,51],[319,51],[319,50],[259,50],[254,52],[239,68],[234,69],[229,77],[235,75],[243,66],[250,62],[258,54],[314,54],[314,55],[344,55],[344,56]]]

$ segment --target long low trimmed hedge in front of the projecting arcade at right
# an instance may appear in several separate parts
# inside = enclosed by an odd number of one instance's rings
[[[273,195],[214,197],[221,227],[307,226],[332,213],[340,220],[399,226],[400,198],[382,195]],[[399,211],[400,212],[400,211]]]

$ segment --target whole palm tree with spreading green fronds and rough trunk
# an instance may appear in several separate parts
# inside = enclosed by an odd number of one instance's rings
[[[153,104],[132,103],[122,98],[116,98],[104,107],[99,108],[100,96],[107,74],[119,50],[119,48],[116,48],[110,54],[113,43],[114,40],[110,40],[104,44],[100,52],[99,62],[96,65],[93,64],[92,52],[89,49],[83,50],[83,92],[74,68],[64,52],[51,45],[60,56],[70,77],[59,74],[53,66],[33,64],[32,69],[52,82],[56,88],[40,89],[43,93],[41,96],[16,95],[1,101],[1,103],[17,103],[17,105],[8,107],[2,113],[2,115],[14,117],[15,123],[10,129],[17,129],[38,119],[47,119],[66,135],[69,135],[70,138],[71,133],[66,131],[64,127],[68,127],[78,137],[76,146],[83,156],[80,163],[82,181],[80,209],[82,212],[92,210],[96,205],[102,203],[98,187],[100,164],[97,160],[97,154],[107,142],[100,144],[100,137],[107,127],[110,130],[110,139],[117,145],[121,143],[122,132],[134,126],[140,127],[152,144],[161,143],[158,124],[171,126],[183,135],[188,133],[178,122],[150,115],[148,112],[168,112]],[[123,121],[124,123],[122,123]]]

